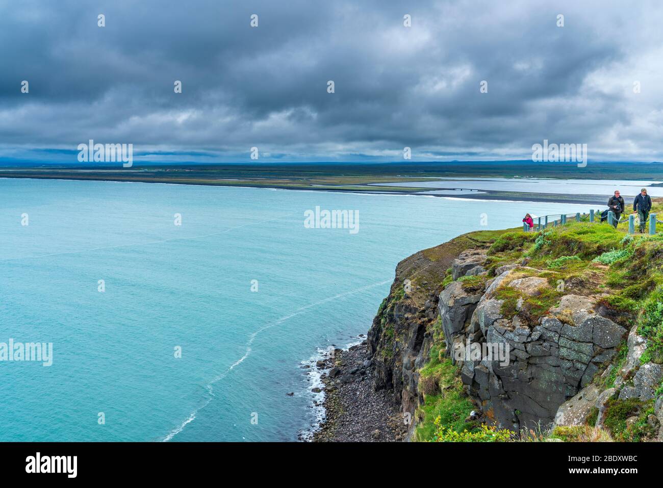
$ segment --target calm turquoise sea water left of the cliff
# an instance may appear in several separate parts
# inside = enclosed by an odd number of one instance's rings
[[[359,232],[305,228],[316,206],[358,210]],[[54,349],[50,367],[0,361],[0,440],[296,440],[316,416],[302,361],[367,332],[398,261],[587,210],[0,179],[0,343]]]

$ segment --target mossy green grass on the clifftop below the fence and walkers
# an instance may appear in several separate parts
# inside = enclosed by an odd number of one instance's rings
[[[656,204],[652,212],[663,212]],[[663,363],[663,225],[655,235],[627,233],[606,223],[569,223],[540,232],[509,232],[491,245],[487,269],[526,261],[545,270],[554,292],[532,298],[530,310],[543,312],[555,305],[562,293],[601,294],[602,303],[616,322],[638,325],[648,339],[644,362]],[[526,275],[528,271],[523,271]],[[508,292],[505,308],[511,306]],[[540,313],[538,314],[540,315]]]

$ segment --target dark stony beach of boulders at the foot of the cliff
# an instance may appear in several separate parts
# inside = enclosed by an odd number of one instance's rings
[[[392,393],[373,388],[375,365],[367,341],[318,361],[324,370],[326,420],[313,442],[398,442],[406,438],[407,425]]]

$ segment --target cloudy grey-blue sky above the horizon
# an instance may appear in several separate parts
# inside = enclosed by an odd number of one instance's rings
[[[552,4],[0,0],[0,161],[663,160],[663,2]]]

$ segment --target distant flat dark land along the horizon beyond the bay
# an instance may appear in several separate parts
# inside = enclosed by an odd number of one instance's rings
[[[287,190],[317,190],[379,194],[416,194],[430,188],[397,186],[417,178],[572,178],[590,180],[661,180],[663,163],[605,162],[578,168],[575,163],[532,163],[531,161],[429,162],[384,164],[180,164],[102,166],[7,166],[0,167],[0,178],[42,178],[145,183],[250,186]],[[394,186],[369,186],[371,183]],[[450,182],[449,188],[455,188]],[[482,190],[449,195],[480,200],[526,200],[605,204],[606,198],[593,195],[541,194]]]

